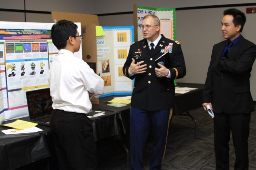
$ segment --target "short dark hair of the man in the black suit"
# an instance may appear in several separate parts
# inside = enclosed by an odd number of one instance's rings
[[[234,25],[235,26],[241,25],[240,32],[243,31],[243,28],[246,22],[246,16],[244,12],[235,8],[230,8],[230,9],[224,10],[223,15],[232,15],[234,17],[233,18]]]

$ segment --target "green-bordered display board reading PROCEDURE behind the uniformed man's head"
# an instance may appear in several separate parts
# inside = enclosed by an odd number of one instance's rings
[[[142,25],[143,17],[148,14],[156,15],[160,19],[160,34],[163,34],[166,38],[171,40],[176,40],[175,8],[150,8],[137,6],[138,41],[143,39],[140,26]]]

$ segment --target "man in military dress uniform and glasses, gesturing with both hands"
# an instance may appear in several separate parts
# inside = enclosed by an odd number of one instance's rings
[[[131,45],[123,66],[124,75],[135,78],[130,111],[131,164],[132,169],[143,169],[151,126],[154,141],[150,169],[161,169],[175,97],[174,79],[184,77],[186,68],[180,43],[160,35],[157,16],[144,16],[141,28],[144,39]]]

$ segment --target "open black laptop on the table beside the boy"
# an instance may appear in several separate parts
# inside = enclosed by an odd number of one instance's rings
[[[30,120],[43,126],[50,126],[53,110],[50,88],[26,91]]]

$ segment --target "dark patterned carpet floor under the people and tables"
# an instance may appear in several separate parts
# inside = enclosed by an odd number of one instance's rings
[[[176,115],[170,124],[162,170],[214,170],[213,119],[199,108],[190,111],[197,120],[198,130],[190,117]],[[256,112],[251,114],[249,136],[249,169],[256,169]],[[124,143],[129,145],[128,136]],[[144,169],[149,169],[152,139],[149,136],[144,153]],[[97,161],[100,170],[128,170],[126,153],[118,140],[97,142]],[[235,153],[230,139],[230,169],[234,169]]]

